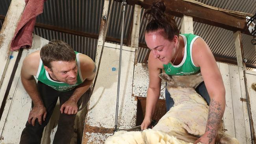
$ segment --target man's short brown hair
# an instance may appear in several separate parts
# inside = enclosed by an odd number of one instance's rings
[[[40,57],[43,64],[48,68],[51,68],[50,62],[52,61],[74,61],[76,60],[76,54],[69,44],[52,40],[48,44],[43,46],[40,50]]]

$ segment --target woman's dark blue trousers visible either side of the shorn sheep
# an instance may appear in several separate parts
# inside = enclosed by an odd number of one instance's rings
[[[200,83],[195,90],[198,94],[202,96],[202,98],[204,98],[204,100],[207,102],[207,105],[209,105],[211,99],[204,85],[204,81]],[[174,105],[173,98],[171,98],[171,94],[168,92],[166,88],[165,88],[165,105],[166,105],[167,111],[169,111],[171,107],[173,107]]]

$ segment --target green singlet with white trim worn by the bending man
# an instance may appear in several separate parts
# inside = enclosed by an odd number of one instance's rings
[[[76,65],[78,68],[78,74],[77,74],[77,82],[75,85],[69,85],[67,83],[64,82],[59,82],[59,81],[54,81],[53,79],[50,78],[48,72],[45,70],[45,67],[43,65],[42,60],[40,59],[40,63],[39,63],[39,67],[37,70],[37,75],[36,78],[41,81],[42,83],[52,87],[55,90],[61,91],[61,92],[67,92],[70,91],[72,89],[74,89],[77,85],[80,85],[81,83],[83,83],[83,78],[82,78],[82,74],[81,74],[81,69],[80,69],[80,61],[78,58],[78,55],[80,53],[74,51],[76,54]]]

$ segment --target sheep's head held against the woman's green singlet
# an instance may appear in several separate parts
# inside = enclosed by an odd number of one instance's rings
[[[161,79],[167,82],[170,87],[193,87],[194,89],[204,81],[201,73],[185,76],[169,76],[165,73],[158,75]]]

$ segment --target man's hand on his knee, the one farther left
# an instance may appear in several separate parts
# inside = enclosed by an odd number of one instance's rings
[[[35,105],[29,113],[28,116],[28,123],[35,126],[35,120],[37,119],[39,124],[42,124],[42,117],[43,121],[46,118],[46,108],[43,105]]]

